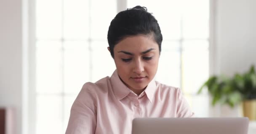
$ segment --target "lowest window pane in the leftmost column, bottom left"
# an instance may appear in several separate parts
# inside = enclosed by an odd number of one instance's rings
[[[37,95],[37,134],[61,134],[62,103],[55,95]]]

